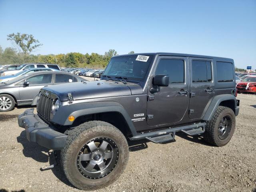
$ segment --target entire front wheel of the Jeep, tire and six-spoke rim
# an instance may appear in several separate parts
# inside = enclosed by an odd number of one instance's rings
[[[95,190],[111,184],[122,174],[129,148],[116,127],[90,121],[70,132],[60,157],[64,173],[74,186]]]

